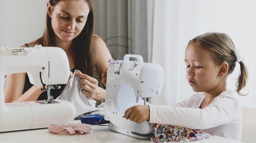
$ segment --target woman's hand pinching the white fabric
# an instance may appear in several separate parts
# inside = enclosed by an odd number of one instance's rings
[[[98,88],[98,80],[87,74],[81,73],[79,70],[76,72],[76,76],[80,77],[79,81],[81,82],[81,92],[86,95],[86,97],[95,99]]]

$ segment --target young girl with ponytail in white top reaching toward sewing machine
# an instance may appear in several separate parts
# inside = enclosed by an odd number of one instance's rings
[[[124,117],[136,123],[169,124],[202,129],[218,136],[241,140],[241,105],[234,91],[226,90],[226,78],[240,64],[237,92],[247,80],[245,64],[223,33],[206,33],[189,41],[185,50],[186,77],[198,93],[175,106],[137,105]]]

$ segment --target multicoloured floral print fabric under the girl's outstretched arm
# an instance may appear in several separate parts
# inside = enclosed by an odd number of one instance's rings
[[[155,131],[151,135],[151,141],[154,142],[189,142],[202,140],[215,136],[199,129],[189,129],[185,127],[151,124]]]

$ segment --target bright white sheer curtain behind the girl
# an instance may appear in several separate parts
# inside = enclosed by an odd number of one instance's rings
[[[226,33],[244,55],[248,81],[238,96],[245,107],[256,108],[256,1],[156,1],[152,62],[164,68],[165,83],[156,104],[175,104],[195,92],[186,80],[185,48],[189,40],[207,32]],[[159,22],[161,21],[161,22]],[[237,64],[228,76],[227,90],[236,90]],[[154,98],[152,99],[154,100]]]

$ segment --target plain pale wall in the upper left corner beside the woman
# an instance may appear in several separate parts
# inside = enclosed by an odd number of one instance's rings
[[[0,1],[0,46],[18,47],[36,40],[46,27],[46,0]]]

